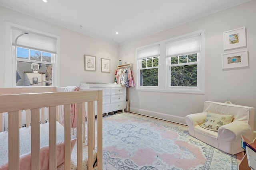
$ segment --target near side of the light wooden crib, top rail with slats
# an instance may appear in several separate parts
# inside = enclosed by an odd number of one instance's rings
[[[82,169],[82,120],[84,102],[88,104],[88,170],[102,170],[102,90],[79,92],[46,92],[33,94],[0,95],[0,113],[8,112],[8,152],[9,169],[20,166],[19,124],[20,110],[30,109],[31,121],[31,168],[40,169],[40,108],[49,107],[49,169],[56,169],[56,111],[64,105],[65,119],[65,170],[70,170],[70,104],[76,103],[77,117],[77,169]],[[97,165],[93,167],[92,154],[95,148],[92,134],[94,127],[94,101],[97,101]],[[0,116],[2,116],[0,114]],[[0,118],[1,121],[1,118]],[[1,130],[1,129],[0,129]]]

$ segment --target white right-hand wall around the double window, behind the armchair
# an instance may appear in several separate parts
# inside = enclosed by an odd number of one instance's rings
[[[130,111],[185,123],[184,117],[202,111],[206,100],[251,106],[256,108],[256,1],[250,1],[154,35],[121,45],[122,61],[135,63],[135,49],[161,40],[206,29],[205,94],[177,94],[170,92],[142,92],[128,89]],[[168,17],[168,16],[166,16]],[[248,68],[222,70],[223,32],[246,27]],[[244,48],[242,48],[244,49]],[[234,51],[234,50],[229,50]],[[134,76],[136,68],[134,67]],[[136,82],[138,83],[138,82]],[[256,119],[256,116],[255,116]],[[256,125],[256,123],[255,123]],[[256,128],[254,128],[256,129]]]

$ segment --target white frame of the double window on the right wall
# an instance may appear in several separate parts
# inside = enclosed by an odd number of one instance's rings
[[[170,41],[178,41],[179,39],[186,39],[195,35],[200,35],[200,53],[198,53],[197,63],[197,86],[196,87],[178,87],[169,86],[170,84],[170,65],[168,64],[167,48],[166,45]],[[158,86],[157,87],[141,87],[140,86],[140,63],[137,57],[138,49],[143,49],[153,45],[160,45],[160,53],[158,59]],[[196,52],[194,52],[196,53]],[[150,57],[150,56],[149,56]],[[145,57],[145,58],[149,58]],[[151,56],[152,57],[152,56]],[[174,56],[173,56],[174,57]],[[150,91],[150,92],[174,92],[174,93],[192,93],[192,94],[204,94],[204,58],[205,58],[205,29],[194,31],[188,34],[184,34],[178,37],[166,39],[156,43],[152,43],[143,47],[136,48],[136,90],[138,91]],[[192,64],[193,62],[189,63]],[[187,63],[185,63],[187,64]]]

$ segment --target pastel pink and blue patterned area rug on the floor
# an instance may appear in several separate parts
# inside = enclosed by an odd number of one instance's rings
[[[238,170],[226,154],[188,133],[188,127],[134,113],[103,119],[104,170]]]

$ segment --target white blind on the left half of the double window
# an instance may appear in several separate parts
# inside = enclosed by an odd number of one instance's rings
[[[142,59],[145,57],[155,57],[155,56],[159,56],[160,52],[159,52],[159,44],[158,45],[154,45],[151,47],[145,47],[142,49],[138,49],[137,50],[137,59]]]

